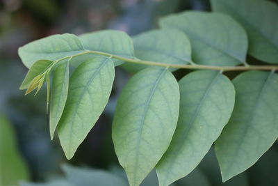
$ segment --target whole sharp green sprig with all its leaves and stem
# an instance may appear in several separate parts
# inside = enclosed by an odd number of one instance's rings
[[[104,111],[114,66],[124,62],[123,68],[139,72],[120,95],[112,135],[130,185],[140,185],[154,168],[159,184],[170,185],[193,171],[214,142],[226,181],[272,146],[278,137],[278,66],[250,65],[246,56],[278,63],[278,8],[262,0],[211,2],[217,13],[163,17],[161,29],[132,39],[120,31],[65,33],[19,48],[30,68],[21,86],[26,93],[38,92],[46,81],[49,97],[54,72],[51,138],[58,127],[68,159]],[[177,68],[199,71],[178,84],[171,72]],[[230,70],[256,71],[231,82],[223,74]]]

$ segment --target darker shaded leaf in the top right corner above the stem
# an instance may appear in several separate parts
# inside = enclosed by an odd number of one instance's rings
[[[262,0],[211,0],[214,11],[234,17],[247,31],[248,53],[268,63],[278,63],[278,6]]]

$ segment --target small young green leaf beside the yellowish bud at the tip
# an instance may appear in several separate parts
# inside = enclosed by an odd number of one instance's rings
[[[30,85],[30,83],[32,82],[32,80],[42,74],[45,70],[47,70],[47,68],[49,67],[49,65],[51,65],[53,61],[49,61],[49,60],[39,60],[36,61],[30,68],[30,70],[28,71],[26,77],[24,78],[22,85],[20,86],[20,90],[26,89],[28,88],[28,86]]]

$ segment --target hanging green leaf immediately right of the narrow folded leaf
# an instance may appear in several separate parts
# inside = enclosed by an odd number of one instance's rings
[[[81,63],[70,77],[67,102],[58,123],[58,136],[67,159],[73,157],[104,111],[114,77],[113,62],[104,57]]]

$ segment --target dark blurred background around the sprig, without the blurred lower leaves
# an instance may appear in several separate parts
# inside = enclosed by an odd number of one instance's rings
[[[60,176],[60,165],[64,162],[95,169],[119,169],[111,139],[111,123],[117,96],[131,75],[121,68],[116,69],[113,93],[104,114],[74,158],[67,161],[58,138],[51,141],[49,137],[45,88],[35,97],[19,91],[27,69],[17,55],[17,48],[55,33],[79,35],[117,29],[134,36],[156,28],[159,17],[183,10],[210,10],[210,6],[208,0],[0,0],[0,117],[5,118],[14,131],[15,144],[26,162],[29,181],[44,182]],[[184,73],[179,70],[175,75],[179,78]],[[0,125],[1,122],[0,119]],[[1,158],[0,164],[5,161]],[[177,184],[277,186],[277,167],[278,144],[275,143],[252,168],[222,183],[211,150],[197,169]],[[2,167],[0,174],[3,171]],[[155,176],[151,177],[147,185],[157,185]]]

